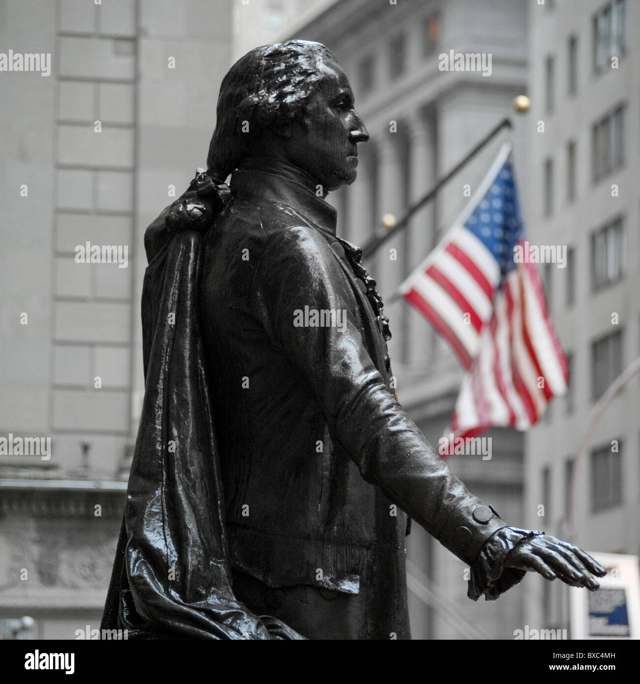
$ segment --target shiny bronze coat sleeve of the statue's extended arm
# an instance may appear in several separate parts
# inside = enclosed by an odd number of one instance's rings
[[[386,386],[363,343],[350,283],[322,235],[295,227],[272,238],[253,306],[362,477],[471,565],[506,523],[450,473]],[[300,325],[305,306],[334,312],[325,320],[334,324]]]

